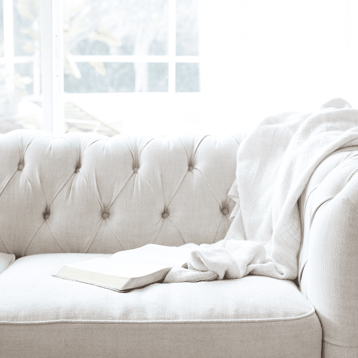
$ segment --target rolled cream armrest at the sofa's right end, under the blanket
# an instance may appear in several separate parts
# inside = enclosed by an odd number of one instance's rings
[[[298,279],[322,325],[322,357],[358,354],[357,150],[324,159],[299,199]]]

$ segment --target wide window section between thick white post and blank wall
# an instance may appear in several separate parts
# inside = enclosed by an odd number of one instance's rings
[[[198,58],[175,55],[198,55],[197,8],[197,0],[64,0],[66,130],[91,131],[90,118],[117,132],[191,121],[195,101],[179,96],[200,91]],[[73,118],[73,105],[87,122]]]

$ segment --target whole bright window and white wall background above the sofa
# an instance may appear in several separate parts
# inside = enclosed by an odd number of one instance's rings
[[[354,0],[0,0],[0,132],[240,132],[358,106]]]

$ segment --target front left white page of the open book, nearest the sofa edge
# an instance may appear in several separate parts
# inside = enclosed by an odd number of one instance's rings
[[[71,263],[65,265],[86,271],[99,272],[101,274],[116,275],[121,277],[140,277],[152,274],[153,272],[165,269],[166,265],[157,265],[155,263],[141,262],[141,261],[113,261],[109,258],[93,258],[84,262]]]

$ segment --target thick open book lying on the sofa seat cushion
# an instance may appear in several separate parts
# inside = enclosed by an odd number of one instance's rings
[[[72,263],[53,277],[84,282],[117,292],[129,292],[163,282],[173,267],[188,268],[193,249],[148,244],[114,253],[111,258]]]

